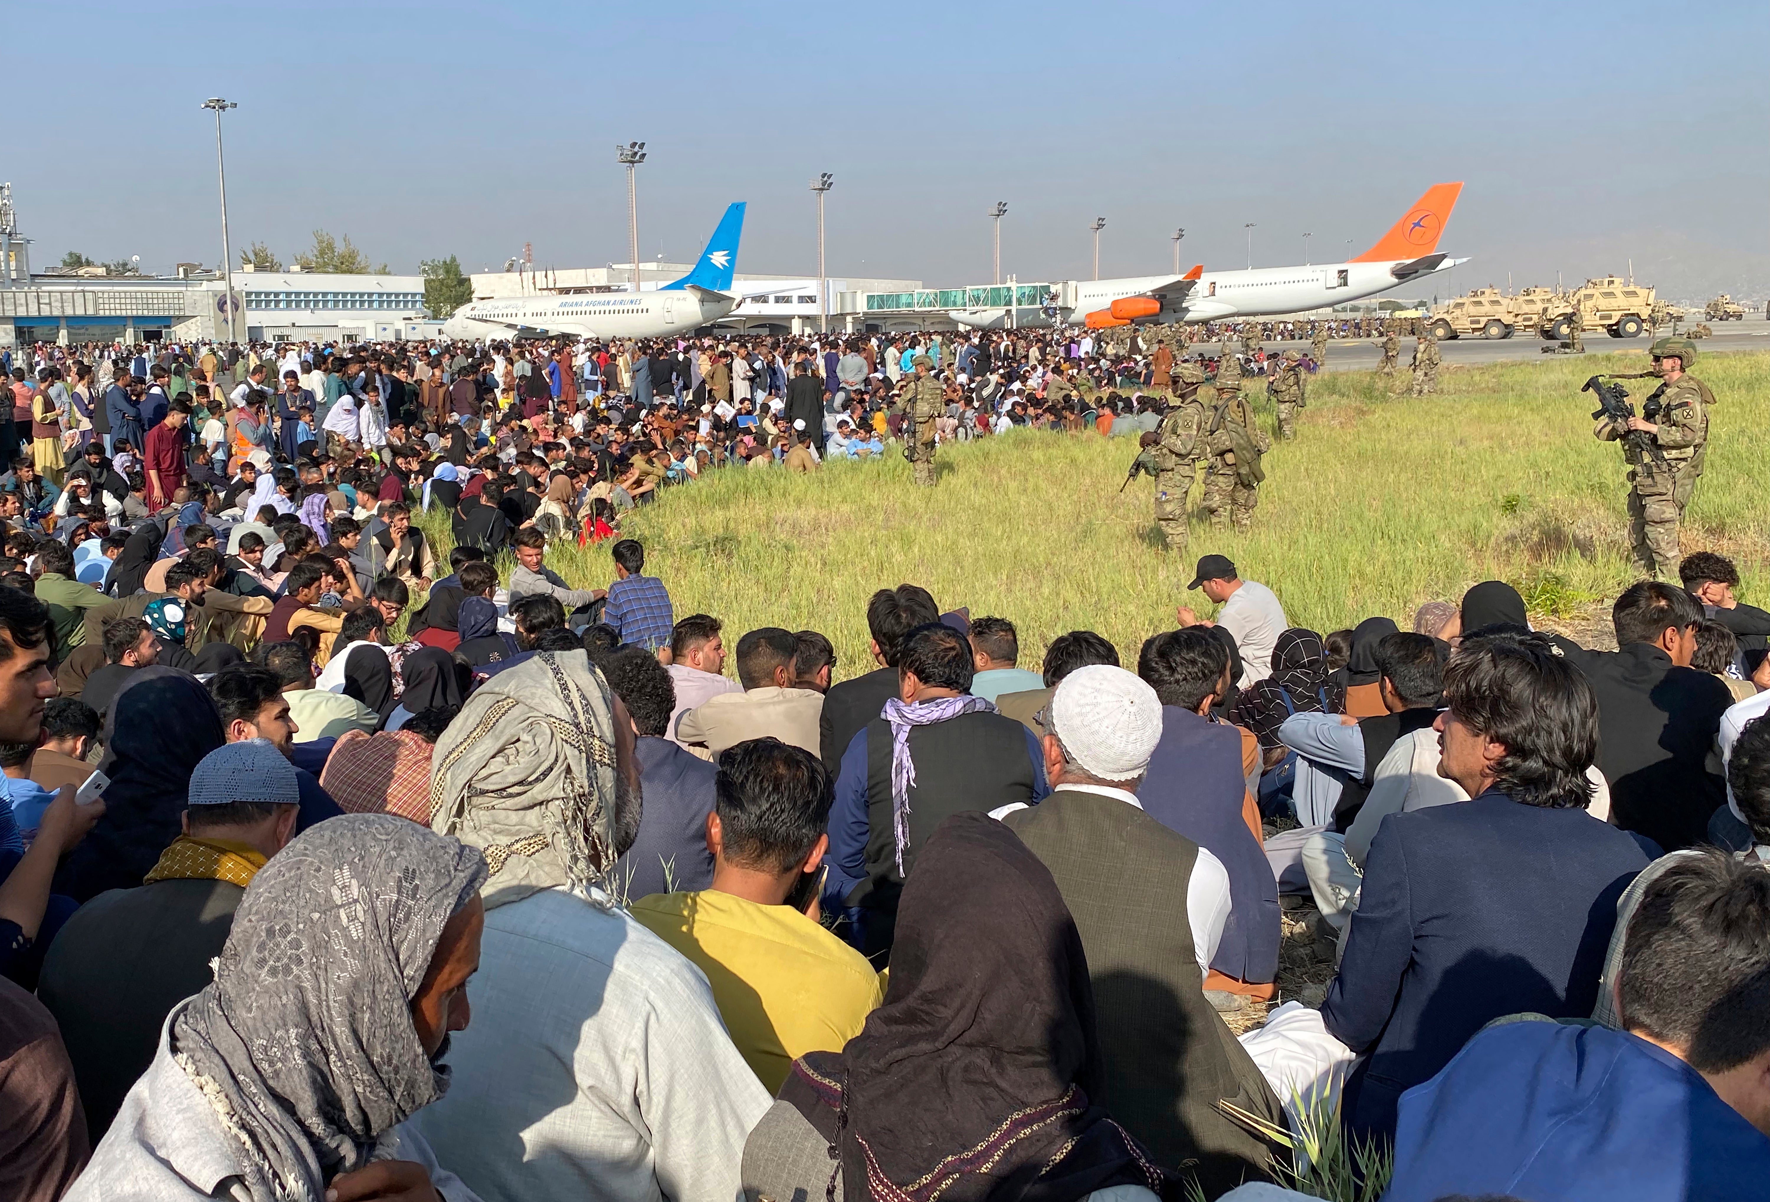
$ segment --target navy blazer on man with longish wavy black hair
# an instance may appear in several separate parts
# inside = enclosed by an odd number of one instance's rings
[[[1589,1016],[1616,899],[1646,864],[1581,809],[1494,790],[1384,818],[1322,1004],[1329,1034],[1368,1053],[1347,1078],[1349,1126],[1393,1135],[1402,1092],[1494,1018]]]

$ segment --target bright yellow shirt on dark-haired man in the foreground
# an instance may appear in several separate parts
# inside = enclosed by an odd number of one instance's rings
[[[791,906],[715,889],[651,894],[634,919],[706,974],[731,1043],[770,1094],[807,1052],[841,1052],[883,988],[866,956]]]

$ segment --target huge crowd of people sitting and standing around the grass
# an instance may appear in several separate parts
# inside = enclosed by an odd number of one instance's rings
[[[779,412],[761,345],[39,351],[0,1197],[1244,1202],[1308,1197],[1322,1113],[1395,1202],[1749,1197],[1770,613],[1726,558],[1618,650],[1497,581],[1296,628],[1211,554],[1214,609],[1035,657],[901,584],[839,673],[618,529],[678,444],[889,435],[904,356],[1064,411],[1085,338],[781,345]]]

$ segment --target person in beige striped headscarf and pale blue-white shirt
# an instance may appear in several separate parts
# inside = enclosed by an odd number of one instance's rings
[[[627,706],[582,651],[542,651],[467,697],[430,798],[435,830],[499,850],[476,1034],[418,1121],[446,1165],[485,1202],[735,1198],[768,1090],[701,970],[605,890],[639,828]]]

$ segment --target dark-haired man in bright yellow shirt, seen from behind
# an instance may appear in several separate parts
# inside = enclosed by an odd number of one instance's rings
[[[742,651],[740,651],[742,655]],[[634,917],[706,974],[726,1030],[770,1094],[807,1052],[841,1052],[880,1004],[878,974],[818,922],[830,774],[775,738],[719,756],[706,816],[713,883],[641,898]]]

